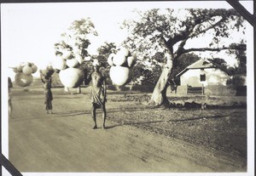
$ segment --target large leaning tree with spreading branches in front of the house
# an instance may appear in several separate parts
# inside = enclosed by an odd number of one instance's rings
[[[140,18],[124,22],[123,27],[129,32],[125,44],[146,58],[153,57],[159,51],[165,54],[166,63],[150,101],[155,105],[169,105],[167,82],[172,76],[173,65],[183,54],[246,50],[245,43],[219,46],[223,38],[230,37],[230,32],[244,27],[243,18],[234,9],[151,9],[138,14]],[[212,37],[207,46],[187,46],[206,35]]]

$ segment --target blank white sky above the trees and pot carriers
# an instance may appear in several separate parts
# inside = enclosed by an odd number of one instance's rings
[[[96,54],[104,42],[119,46],[126,37],[119,26],[124,20],[137,18],[133,9],[153,8],[225,8],[226,2],[125,2],[125,3],[8,3],[1,4],[2,60],[4,66],[15,67],[21,62],[32,62],[45,69],[55,59],[54,44],[61,33],[74,20],[90,17],[96,27],[97,37],[92,37],[88,48]],[[253,6],[252,6],[253,7]],[[201,43],[199,40],[198,43]],[[195,43],[193,43],[195,44]],[[11,68],[8,77],[15,77]],[[33,76],[38,77],[38,71]]]

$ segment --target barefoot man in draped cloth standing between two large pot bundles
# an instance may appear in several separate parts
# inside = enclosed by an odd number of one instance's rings
[[[107,102],[107,85],[106,85],[106,77],[102,75],[102,72],[99,71],[100,63],[98,60],[94,60],[93,62],[94,71],[88,77],[86,82],[90,82],[90,102],[91,102],[91,116],[94,122],[93,129],[97,128],[96,124],[96,109],[102,109],[102,128],[105,129],[105,121],[106,121],[106,102]]]

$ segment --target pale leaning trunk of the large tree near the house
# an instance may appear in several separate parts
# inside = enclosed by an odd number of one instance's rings
[[[160,78],[154,87],[154,92],[150,99],[150,104],[153,105],[169,105],[169,100],[166,96],[166,90],[168,88],[168,78],[172,72],[172,55],[167,54],[166,65],[163,67]]]

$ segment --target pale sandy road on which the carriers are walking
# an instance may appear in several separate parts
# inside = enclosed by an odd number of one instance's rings
[[[147,111],[143,104],[116,101],[119,96],[108,94],[107,129],[101,128],[99,110],[99,128],[93,130],[86,90],[83,94],[61,94],[53,89],[54,114],[46,114],[42,90],[14,91],[14,109],[9,118],[9,161],[20,172],[247,171],[245,156],[126,125],[120,110],[131,109],[135,114]],[[113,120],[118,115],[122,121]]]

